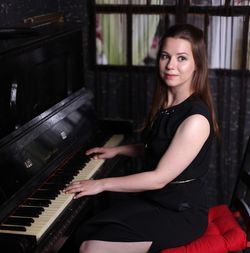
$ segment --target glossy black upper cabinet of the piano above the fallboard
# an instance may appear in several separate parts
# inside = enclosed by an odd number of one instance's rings
[[[0,34],[0,138],[83,86],[81,27],[28,31]]]

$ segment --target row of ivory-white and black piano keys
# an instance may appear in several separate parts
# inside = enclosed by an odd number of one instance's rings
[[[119,145],[124,136],[123,135],[113,135],[106,143],[105,147],[114,147]],[[95,173],[99,170],[102,164],[105,162],[104,159],[95,160],[91,158],[87,164],[81,168],[76,176],[73,177],[72,181],[83,180],[83,179],[91,179],[95,175]],[[70,183],[68,182],[68,183]],[[41,236],[46,232],[49,226],[56,220],[56,218],[62,213],[62,211],[67,207],[67,205],[72,201],[74,195],[73,194],[65,194],[62,191],[54,198],[50,199],[48,202],[50,204],[47,207],[37,207],[37,206],[26,206],[22,205],[21,208],[30,208],[33,207],[34,211],[37,210],[36,214],[32,214],[30,216],[23,216],[19,213],[14,213],[13,216],[10,216],[7,221],[13,221],[13,225],[11,222],[6,222],[8,224],[2,223],[0,225],[0,233],[8,233],[8,234],[22,234],[22,235],[32,235],[36,237],[38,241]],[[30,199],[32,202],[37,199]],[[46,199],[38,200],[40,202],[46,202]],[[31,208],[32,209],[32,208]],[[25,211],[24,211],[25,212]],[[16,225],[16,221],[26,222],[27,225]]]

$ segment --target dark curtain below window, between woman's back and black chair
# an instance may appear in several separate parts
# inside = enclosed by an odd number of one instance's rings
[[[221,136],[214,142],[207,186],[209,202],[229,204],[250,135],[250,75],[210,71]]]

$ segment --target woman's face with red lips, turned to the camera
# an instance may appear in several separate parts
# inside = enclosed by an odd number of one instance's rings
[[[169,88],[191,91],[195,71],[191,43],[184,39],[167,38],[160,52],[159,71]]]

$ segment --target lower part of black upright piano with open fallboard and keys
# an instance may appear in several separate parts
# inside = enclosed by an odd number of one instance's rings
[[[126,143],[130,122],[100,120],[81,88],[0,140],[0,247],[8,252],[59,252],[93,197],[62,192],[73,180],[112,174],[121,157],[94,160],[93,146]],[[92,199],[92,200],[91,200]]]

